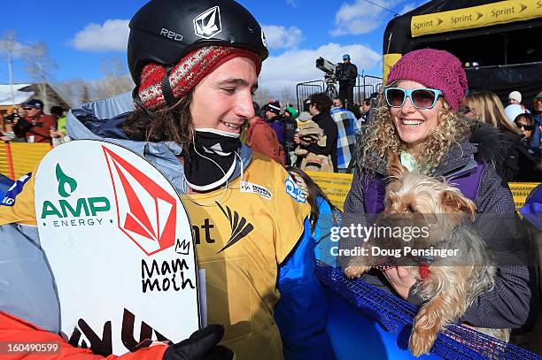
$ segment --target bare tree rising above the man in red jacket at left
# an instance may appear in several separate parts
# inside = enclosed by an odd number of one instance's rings
[[[49,96],[47,95],[47,82],[51,79],[51,71],[57,67],[55,61],[49,56],[49,49],[43,42],[37,42],[24,51],[27,62],[27,72],[38,88],[38,96],[43,101],[44,110],[49,111]]]

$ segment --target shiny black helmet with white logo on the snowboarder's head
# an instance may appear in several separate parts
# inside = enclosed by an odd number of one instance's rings
[[[151,0],[130,20],[128,68],[139,85],[143,66],[172,66],[208,45],[252,50],[269,56],[258,21],[233,0]]]

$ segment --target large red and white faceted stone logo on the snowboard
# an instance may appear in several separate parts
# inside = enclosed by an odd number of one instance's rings
[[[147,255],[173,246],[175,197],[111,149],[102,148],[113,183],[120,230]]]

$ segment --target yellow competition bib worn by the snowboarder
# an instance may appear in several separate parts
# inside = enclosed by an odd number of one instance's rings
[[[222,343],[238,359],[281,359],[273,318],[278,264],[303,233],[310,207],[282,166],[253,154],[226,192],[183,195],[197,249],[207,324],[225,326]],[[205,305],[204,305],[205,306]]]

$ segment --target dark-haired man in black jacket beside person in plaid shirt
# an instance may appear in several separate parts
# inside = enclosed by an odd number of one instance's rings
[[[317,144],[311,144],[306,149],[314,154],[329,157],[333,165],[333,172],[337,172],[337,124],[329,111],[331,110],[331,99],[325,93],[313,94],[310,98],[309,112],[312,120],[318,125],[326,136],[326,146],[321,148]],[[296,134],[294,142],[299,143],[299,135]]]

